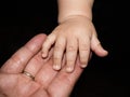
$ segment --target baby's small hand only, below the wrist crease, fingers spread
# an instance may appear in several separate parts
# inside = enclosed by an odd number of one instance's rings
[[[77,55],[80,57],[81,68],[87,67],[90,51],[98,56],[106,56],[105,51],[98,37],[92,22],[83,16],[72,16],[61,23],[50,33],[42,45],[42,57],[47,57],[49,50],[54,44],[53,68],[62,68],[63,55],[66,59],[66,71],[72,72],[75,68]]]

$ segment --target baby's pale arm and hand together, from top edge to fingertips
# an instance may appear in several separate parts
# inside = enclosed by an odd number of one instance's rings
[[[101,45],[92,23],[93,2],[94,0],[57,0],[58,26],[42,44],[42,57],[48,56],[49,50],[54,44],[53,69],[62,68],[64,55],[66,71],[72,72],[75,69],[77,55],[81,68],[86,68],[91,51],[101,57],[108,54]]]

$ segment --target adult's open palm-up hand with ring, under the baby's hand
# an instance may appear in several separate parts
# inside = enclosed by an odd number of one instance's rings
[[[44,39],[42,33],[36,36],[1,67],[0,97],[69,96],[82,69],[77,59],[73,73],[66,73],[65,68],[53,70],[51,56],[47,60],[41,57]]]

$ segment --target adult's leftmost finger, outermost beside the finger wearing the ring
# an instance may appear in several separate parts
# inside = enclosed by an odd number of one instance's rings
[[[2,72],[18,73],[26,67],[27,63],[40,51],[46,34],[40,33],[28,41],[1,67]]]

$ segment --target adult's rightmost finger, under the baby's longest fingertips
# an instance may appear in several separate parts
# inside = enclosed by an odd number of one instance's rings
[[[79,60],[77,60],[75,70],[72,73],[67,73],[64,67],[50,84],[48,93],[53,97],[69,97],[82,70]]]

